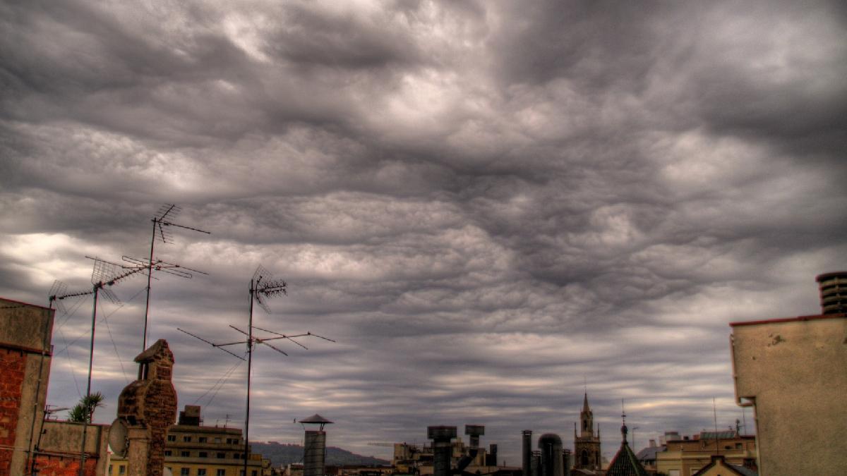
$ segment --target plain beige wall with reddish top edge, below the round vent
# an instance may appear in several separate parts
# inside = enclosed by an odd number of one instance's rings
[[[735,396],[754,403],[759,473],[844,474],[844,314],[732,326]]]

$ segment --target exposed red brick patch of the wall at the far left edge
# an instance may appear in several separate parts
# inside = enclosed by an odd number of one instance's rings
[[[0,348],[0,474],[10,472],[25,363],[24,352]]]

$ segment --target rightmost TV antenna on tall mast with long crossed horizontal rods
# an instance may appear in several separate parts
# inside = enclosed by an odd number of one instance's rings
[[[253,277],[250,280],[250,318],[247,321],[247,330],[244,331],[242,329],[238,329],[234,325],[230,325],[230,328],[235,329],[241,334],[246,336],[246,340],[236,340],[234,342],[224,342],[222,344],[216,344],[210,340],[203,339],[197,335],[191,334],[186,330],[177,328],[181,332],[185,332],[187,335],[191,335],[198,340],[202,340],[206,342],[210,346],[219,348],[222,351],[227,352],[235,357],[244,360],[244,357],[238,356],[235,353],[224,349],[226,346],[236,346],[240,344],[246,344],[247,346],[247,401],[246,401],[246,416],[244,418],[244,473],[247,473],[247,453],[249,452],[249,442],[250,442],[250,380],[251,380],[251,371],[252,371],[252,357],[253,350],[257,344],[264,344],[265,346],[270,347],[274,351],[280,352],[280,354],[287,356],[288,353],[283,351],[277,346],[268,343],[268,340],[291,340],[297,346],[301,346],[304,349],[308,349],[307,346],[302,345],[300,342],[295,340],[296,337],[317,337],[318,339],[329,340],[330,342],[335,342],[335,340],[329,339],[328,337],[324,337],[322,335],[313,334],[312,332],[306,332],[305,334],[296,334],[296,335],[286,335],[280,334],[279,332],[274,332],[273,330],[262,329],[260,327],[256,327],[253,325],[253,302],[258,302],[259,306],[261,306],[266,313],[270,313],[270,307],[268,307],[268,303],[266,302],[268,298],[284,296],[288,294],[287,291],[288,285],[284,280],[276,280],[274,279],[273,274],[271,274],[267,269],[265,269],[262,265],[259,265],[256,268],[256,272],[253,273]],[[256,337],[253,335],[253,329],[262,330],[266,332],[271,337]]]

